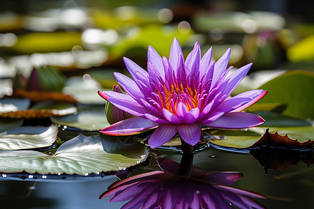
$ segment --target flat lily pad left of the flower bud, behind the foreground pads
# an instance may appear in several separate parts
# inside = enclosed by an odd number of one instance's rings
[[[52,117],[50,119],[53,123],[87,131],[100,130],[110,125],[105,116],[105,105],[88,105],[78,107],[77,114]]]

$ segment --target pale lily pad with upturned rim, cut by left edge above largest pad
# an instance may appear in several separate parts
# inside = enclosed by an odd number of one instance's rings
[[[50,146],[57,139],[57,125],[15,127],[0,134],[0,150],[22,150]]]

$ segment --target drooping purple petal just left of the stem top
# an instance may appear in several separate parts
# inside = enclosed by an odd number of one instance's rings
[[[177,126],[173,124],[160,124],[151,137],[149,138],[149,146],[157,148],[169,141],[174,135],[177,134]]]

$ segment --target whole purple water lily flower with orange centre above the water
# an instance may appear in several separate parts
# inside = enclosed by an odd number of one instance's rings
[[[201,59],[200,45],[196,42],[184,61],[177,38],[172,42],[169,59],[161,58],[149,46],[147,71],[124,57],[133,79],[119,72],[114,72],[114,76],[128,95],[114,91],[98,94],[136,117],[114,123],[100,132],[119,136],[156,128],[149,146],[157,148],[177,133],[194,146],[202,134],[200,125],[226,129],[261,125],[263,118],[241,111],[264,97],[267,91],[247,91],[229,98],[252,65],[244,65],[227,76],[232,69],[227,68],[229,58],[230,49],[215,63],[209,49]]]

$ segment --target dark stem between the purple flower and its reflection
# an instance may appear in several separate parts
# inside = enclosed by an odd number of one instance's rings
[[[185,141],[181,139],[181,145],[183,154],[181,157],[181,163],[179,168],[179,174],[182,176],[191,176],[192,166],[193,166],[193,157],[194,157],[194,148],[193,146],[186,144]]]

